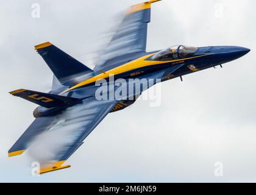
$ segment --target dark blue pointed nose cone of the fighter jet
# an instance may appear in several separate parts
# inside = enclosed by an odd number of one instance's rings
[[[213,47],[212,51],[218,59],[221,59],[223,63],[226,63],[239,59],[250,52],[251,49],[238,46],[216,46]]]

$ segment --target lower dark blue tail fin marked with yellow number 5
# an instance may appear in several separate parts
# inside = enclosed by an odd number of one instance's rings
[[[27,101],[41,105],[45,108],[62,107],[65,105],[74,104],[74,102],[79,101],[79,99],[76,98],[69,98],[64,96],[58,96],[55,94],[41,93],[37,91],[23,89],[12,91],[10,92],[10,94],[26,99]]]

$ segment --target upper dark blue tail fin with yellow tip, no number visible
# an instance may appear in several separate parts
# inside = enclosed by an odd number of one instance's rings
[[[93,72],[50,42],[38,44],[35,49],[43,57],[60,83],[70,83],[77,76]]]

